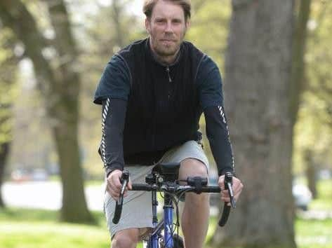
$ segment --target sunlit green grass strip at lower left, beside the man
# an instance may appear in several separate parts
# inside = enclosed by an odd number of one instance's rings
[[[7,209],[0,212],[1,248],[109,247],[103,216],[97,226],[59,223],[54,211]]]

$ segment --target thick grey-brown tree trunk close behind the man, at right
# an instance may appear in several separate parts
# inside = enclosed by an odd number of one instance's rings
[[[293,1],[233,0],[225,105],[244,190],[214,247],[296,247],[291,192]]]

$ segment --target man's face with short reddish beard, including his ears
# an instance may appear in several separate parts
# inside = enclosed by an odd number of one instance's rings
[[[160,57],[175,55],[188,25],[189,21],[185,22],[185,13],[181,6],[159,0],[153,8],[151,18],[145,20],[154,53]]]

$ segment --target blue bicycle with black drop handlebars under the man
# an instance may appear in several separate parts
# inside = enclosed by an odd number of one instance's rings
[[[202,177],[188,177],[187,184],[178,184],[178,172],[180,163],[160,163],[154,167],[151,174],[145,177],[146,184],[133,184],[132,191],[151,191],[152,192],[152,223],[153,228],[148,240],[145,240],[146,248],[183,248],[183,240],[178,232],[175,233],[175,228],[179,228],[178,220],[178,201],[187,192],[194,193],[220,193],[219,186],[207,185],[208,180]],[[225,226],[231,207],[235,208],[234,194],[232,191],[232,174],[227,172],[225,174],[225,189],[230,195],[231,206],[225,205],[223,207],[223,214],[218,221],[219,226]],[[119,200],[116,202],[113,223],[119,223],[121,218],[122,204],[124,201],[124,190],[129,181],[129,172],[124,171],[121,176],[121,193]],[[164,218],[158,221],[157,218],[157,192],[164,192]],[[176,206],[176,223],[173,228],[173,203]],[[164,230],[164,233],[163,233]]]

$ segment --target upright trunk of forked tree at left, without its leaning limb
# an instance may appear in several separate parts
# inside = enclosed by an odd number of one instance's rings
[[[84,195],[84,181],[79,154],[79,90],[76,71],[77,48],[70,29],[67,9],[63,1],[48,0],[48,12],[55,29],[55,48],[62,62],[56,71],[58,81],[55,94],[60,97],[54,116],[55,146],[58,151],[62,179],[62,219],[71,222],[93,221]]]

